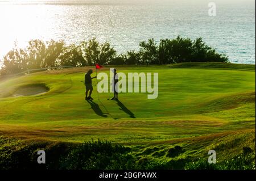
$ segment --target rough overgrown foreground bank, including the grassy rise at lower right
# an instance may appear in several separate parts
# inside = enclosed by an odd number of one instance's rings
[[[157,146],[127,147],[108,141],[74,144],[3,136],[0,142],[1,169],[255,169],[255,130]],[[47,153],[43,165],[36,162],[41,149]],[[208,163],[208,149],[216,150],[217,164]]]

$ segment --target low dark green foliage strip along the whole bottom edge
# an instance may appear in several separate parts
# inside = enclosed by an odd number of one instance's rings
[[[38,164],[38,150],[46,151],[46,164]],[[48,141],[20,141],[15,138],[0,137],[1,170],[91,170],[91,169],[254,169],[255,151],[245,148],[245,153],[233,158],[209,164],[207,158],[179,158],[183,151],[175,146],[171,151],[178,152],[172,159],[154,158],[150,154],[158,147],[146,149],[143,155],[135,156],[130,148],[109,141],[90,141],[83,144]],[[169,153],[170,150],[167,151]],[[145,154],[144,154],[145,153]],[[146,154],[148,153],[148,154]]]

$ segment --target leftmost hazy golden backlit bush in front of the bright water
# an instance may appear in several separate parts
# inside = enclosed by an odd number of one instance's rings
[[[15,47],[2,60],[1,75],[15,74],[27,69],[49,68],[56,65],[64,52],[65,43],[60,41],[30,40],[24,49]]]

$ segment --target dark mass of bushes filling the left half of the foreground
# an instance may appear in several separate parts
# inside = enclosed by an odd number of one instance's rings
[[[84,144],[64,142],[21,142],[0,137],[0,168],[2,170],[88,170],[132,169],[134,157],[130,148],[108,141]],[[38,150],[46,151],[46,164],[38,164]]]

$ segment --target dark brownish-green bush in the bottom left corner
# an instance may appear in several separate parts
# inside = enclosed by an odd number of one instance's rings
[[[0,168],[2,170],[59,169],[61,156],[72,146],[65,143],[45,141],[21,142],[13,138],[1,139]],[[38,150],[46,151],[46,164],[38,164]]]

